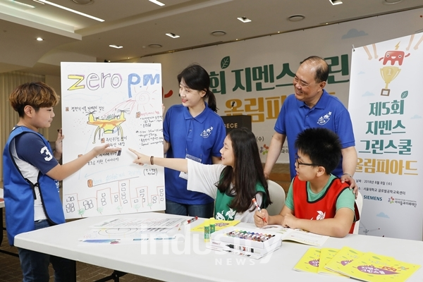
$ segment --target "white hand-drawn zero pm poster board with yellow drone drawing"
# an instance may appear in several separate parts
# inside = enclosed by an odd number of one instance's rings
[[[163,156],[161,64],[61,63],[63,164],[109,143],[63,180],[66,219],[166,208],[164,169],[133,164],[128,148]]]

